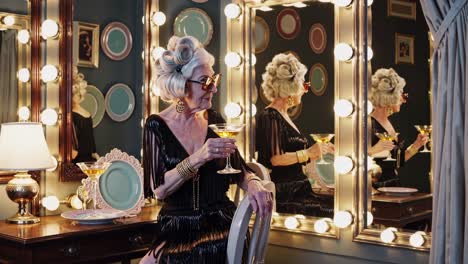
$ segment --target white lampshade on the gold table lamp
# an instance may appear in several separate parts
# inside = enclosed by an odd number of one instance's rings
[[[53,166],[40,123],[2,124],[0,170],[44,170]]]

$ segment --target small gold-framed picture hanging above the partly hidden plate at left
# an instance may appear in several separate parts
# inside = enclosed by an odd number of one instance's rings
[[[99,25],[73,22],[73,58],[78,67],[99,66]]]

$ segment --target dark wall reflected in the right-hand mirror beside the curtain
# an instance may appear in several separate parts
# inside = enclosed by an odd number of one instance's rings
[[[372,72],[391,67],[406,80],[404,89],[409,94],[408,102],[402,105],[400,113],[391,116],[395,129],[405,139],[406,147],[417,137],[414,125],[428,125],[431,121],[429,28],[419,1],[415,2],[416,20],[387,16],[387,1],[374,1],[372,4]],[[414,36],[414,64],[395,64],[395,33]],[[429,171],[430,155],[417,154],[400,169],[402,185],[429,192]]]

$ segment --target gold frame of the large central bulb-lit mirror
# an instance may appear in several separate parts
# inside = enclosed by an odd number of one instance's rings
[[[280,4],[290,4],[295,2],[302,2],[298,0],[233,0],[233,3],[238,4],[242,8],[242,15],[238,19],[228,19],[227,22],[227,52],[233,51],[238,52],[243,57],[243,64],[239,68],[228,68],[227,69],[227,100],[231,102],[239,102],[243,105],[246,113],[252,113],[251,109],[251,98],[252,98],[252,85],[254,84],[255,72],[250,67],[251,62],[251,50],[253,41],[249,37],[250,32],[253,28],[255,18],[255,8],[261,6],[271,6]],[[357,12],[355,5],[349,8],[340,8],[335,6],[335,43],[345,42],[349,43],[355,49],[355,54],[358,53],[359,47],[357,41]],[[239,37],[242,38],[239,41]],[[358,85],[358,78],[355,76],[356,69],[359,65],[359,61],[356,60],[356,56],[350,62],[340,62],[335,59],[335,101],[338,99],[348,99],[355,101],[354,87]],[[245,89],[233,89],[233,87],[246,87]],[[339,118],[335,115],[335,153],[336,155],[350,156],[354,160],[356,159],[356,151],[353,147],[353,137],[357,136],[349,131],[355,128],[357,124],[356,113],[350,118]],[[242,115],[241,119],[244,118],[246,124],[246,131],[243,138],[242,149],[246,160],[251,161],[253,159],[253,120],[251,114]],[[355,162],[356,163],[356,162]],[[355,169],[348,174],[337,174],[335,172],[335,212],[340,210],[346,210],[354,214],[353,202],[351,199],[343,199],[343,197],[352,197],[352,194],[347,191],[346,188],[340,188],[341,185],[350,186],[352,175],[355,174],[359,168],[358,164],[355,165]],[[349,184],[349,185],[348,185]],[[275,215],[273,217],[272,229],[278,231],[288,231],[293,233],[318,235],[329,238],[339,238],[339,229],[330,225],[330,230],[327,233],[320,234],[314,231],[313,226],[318,219],[317,217],[305,217],[300,219],[300,226],[294,230],[287,229],[282,223],[284,222],[287,215]],[[278,242],[278,243],[277,243]],[[287,246],[293,246],[291,241],[275,241],[275,244],[282,244]],[[296,246],[296,245],[294,245]],[[297,245],[296,247],[301,247]]]

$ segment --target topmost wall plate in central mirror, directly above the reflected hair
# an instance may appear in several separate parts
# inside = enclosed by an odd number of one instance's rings
[[[292,8],[281,10],[276,17],[276,30],[284,39],[294,39],[301,31],[301,17]]]

